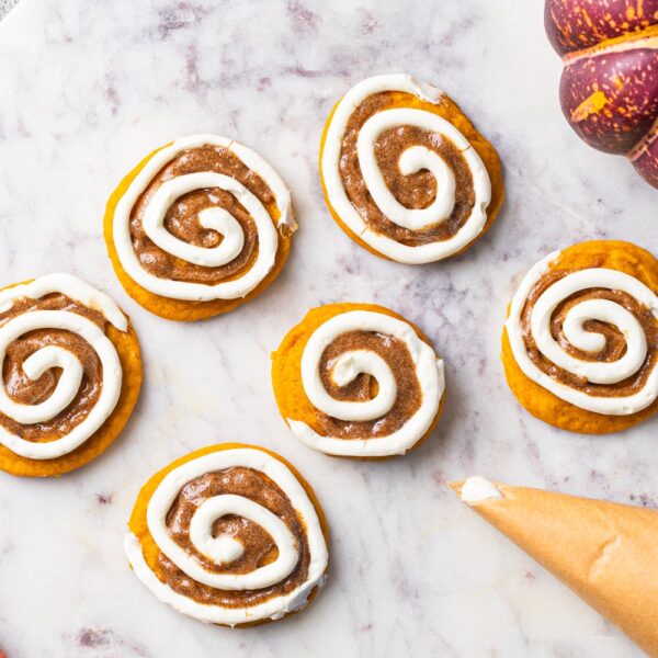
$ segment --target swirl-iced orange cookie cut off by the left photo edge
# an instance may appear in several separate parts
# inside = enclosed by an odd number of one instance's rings
[[[128,318],[70,274],[0,291],[0,468],[13,475],[61,475],[93,460],[141,386]]]

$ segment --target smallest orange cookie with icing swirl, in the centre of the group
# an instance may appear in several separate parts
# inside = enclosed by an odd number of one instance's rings
[[[281,415],[314,450],[348,457],[405,454],[441,416],[443,361],[419,329],[382,306],[314,308],[272,359]]]

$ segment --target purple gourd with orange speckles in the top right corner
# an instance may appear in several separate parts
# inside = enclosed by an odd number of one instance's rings
[[[658,0],[546,0],[544,23],[571,127],[658,188]]]

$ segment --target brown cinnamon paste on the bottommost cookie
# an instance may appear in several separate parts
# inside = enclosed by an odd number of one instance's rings
[[[245,553],[228,565],[217,566],[198,553],[190,541],[190,522],[196,509],[208,498],[224,494],[243,496],[276,514],[297,540],[297,566],[281,582],[259,590],[219,590],[192,580],[162,553],[158,567],[166,582],[179,594],[200,603],[225,608],[258,605],[268,599],[286,594],[302,585],[308,575],[309,549],[306,530],[287,496],[264,474],[246,467],[231,467],[207,473],[188,483],[167,514],[167,529],[173,541],[198,560],[207,571],[248,574],[277,556],[276,544],[257,523],[228,514],[215,521],[213,536],[229,535],[245,546]]]

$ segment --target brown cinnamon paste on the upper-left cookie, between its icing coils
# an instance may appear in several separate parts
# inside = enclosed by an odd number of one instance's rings
[[[214,171],[236,179],[268,207],[274,203],[274,194],[268,184],[230,150],[220,146],[205,145],[178,154],[151,180],[131,213],[131,239],[141,266],[160,279],[205,283],[214,285],[239,277],[258,257],[256,224],[236,197],[218,188],[194,190],[180,196],[164,217],[164,228],[180,240],[196,247],[211,249],[223,240],[216,230],[203,228],[198,213],[205,208],[219,207],[230,213],[245,232],[242,251],[229,263],[218,268],[205,268],[181,260],[160,249],[146,235],[141,220],[158,188],[172,178],[200,171]]]

